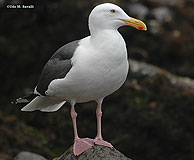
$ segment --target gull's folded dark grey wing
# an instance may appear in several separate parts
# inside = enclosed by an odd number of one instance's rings
[[[54,55],[45,64],[36,91],[41,95],[46,95],[45,91],[51,81],[64,78],[72,68],[71,58],[76,48],[79,46],[79,40],[70,42],[59,48]]]

